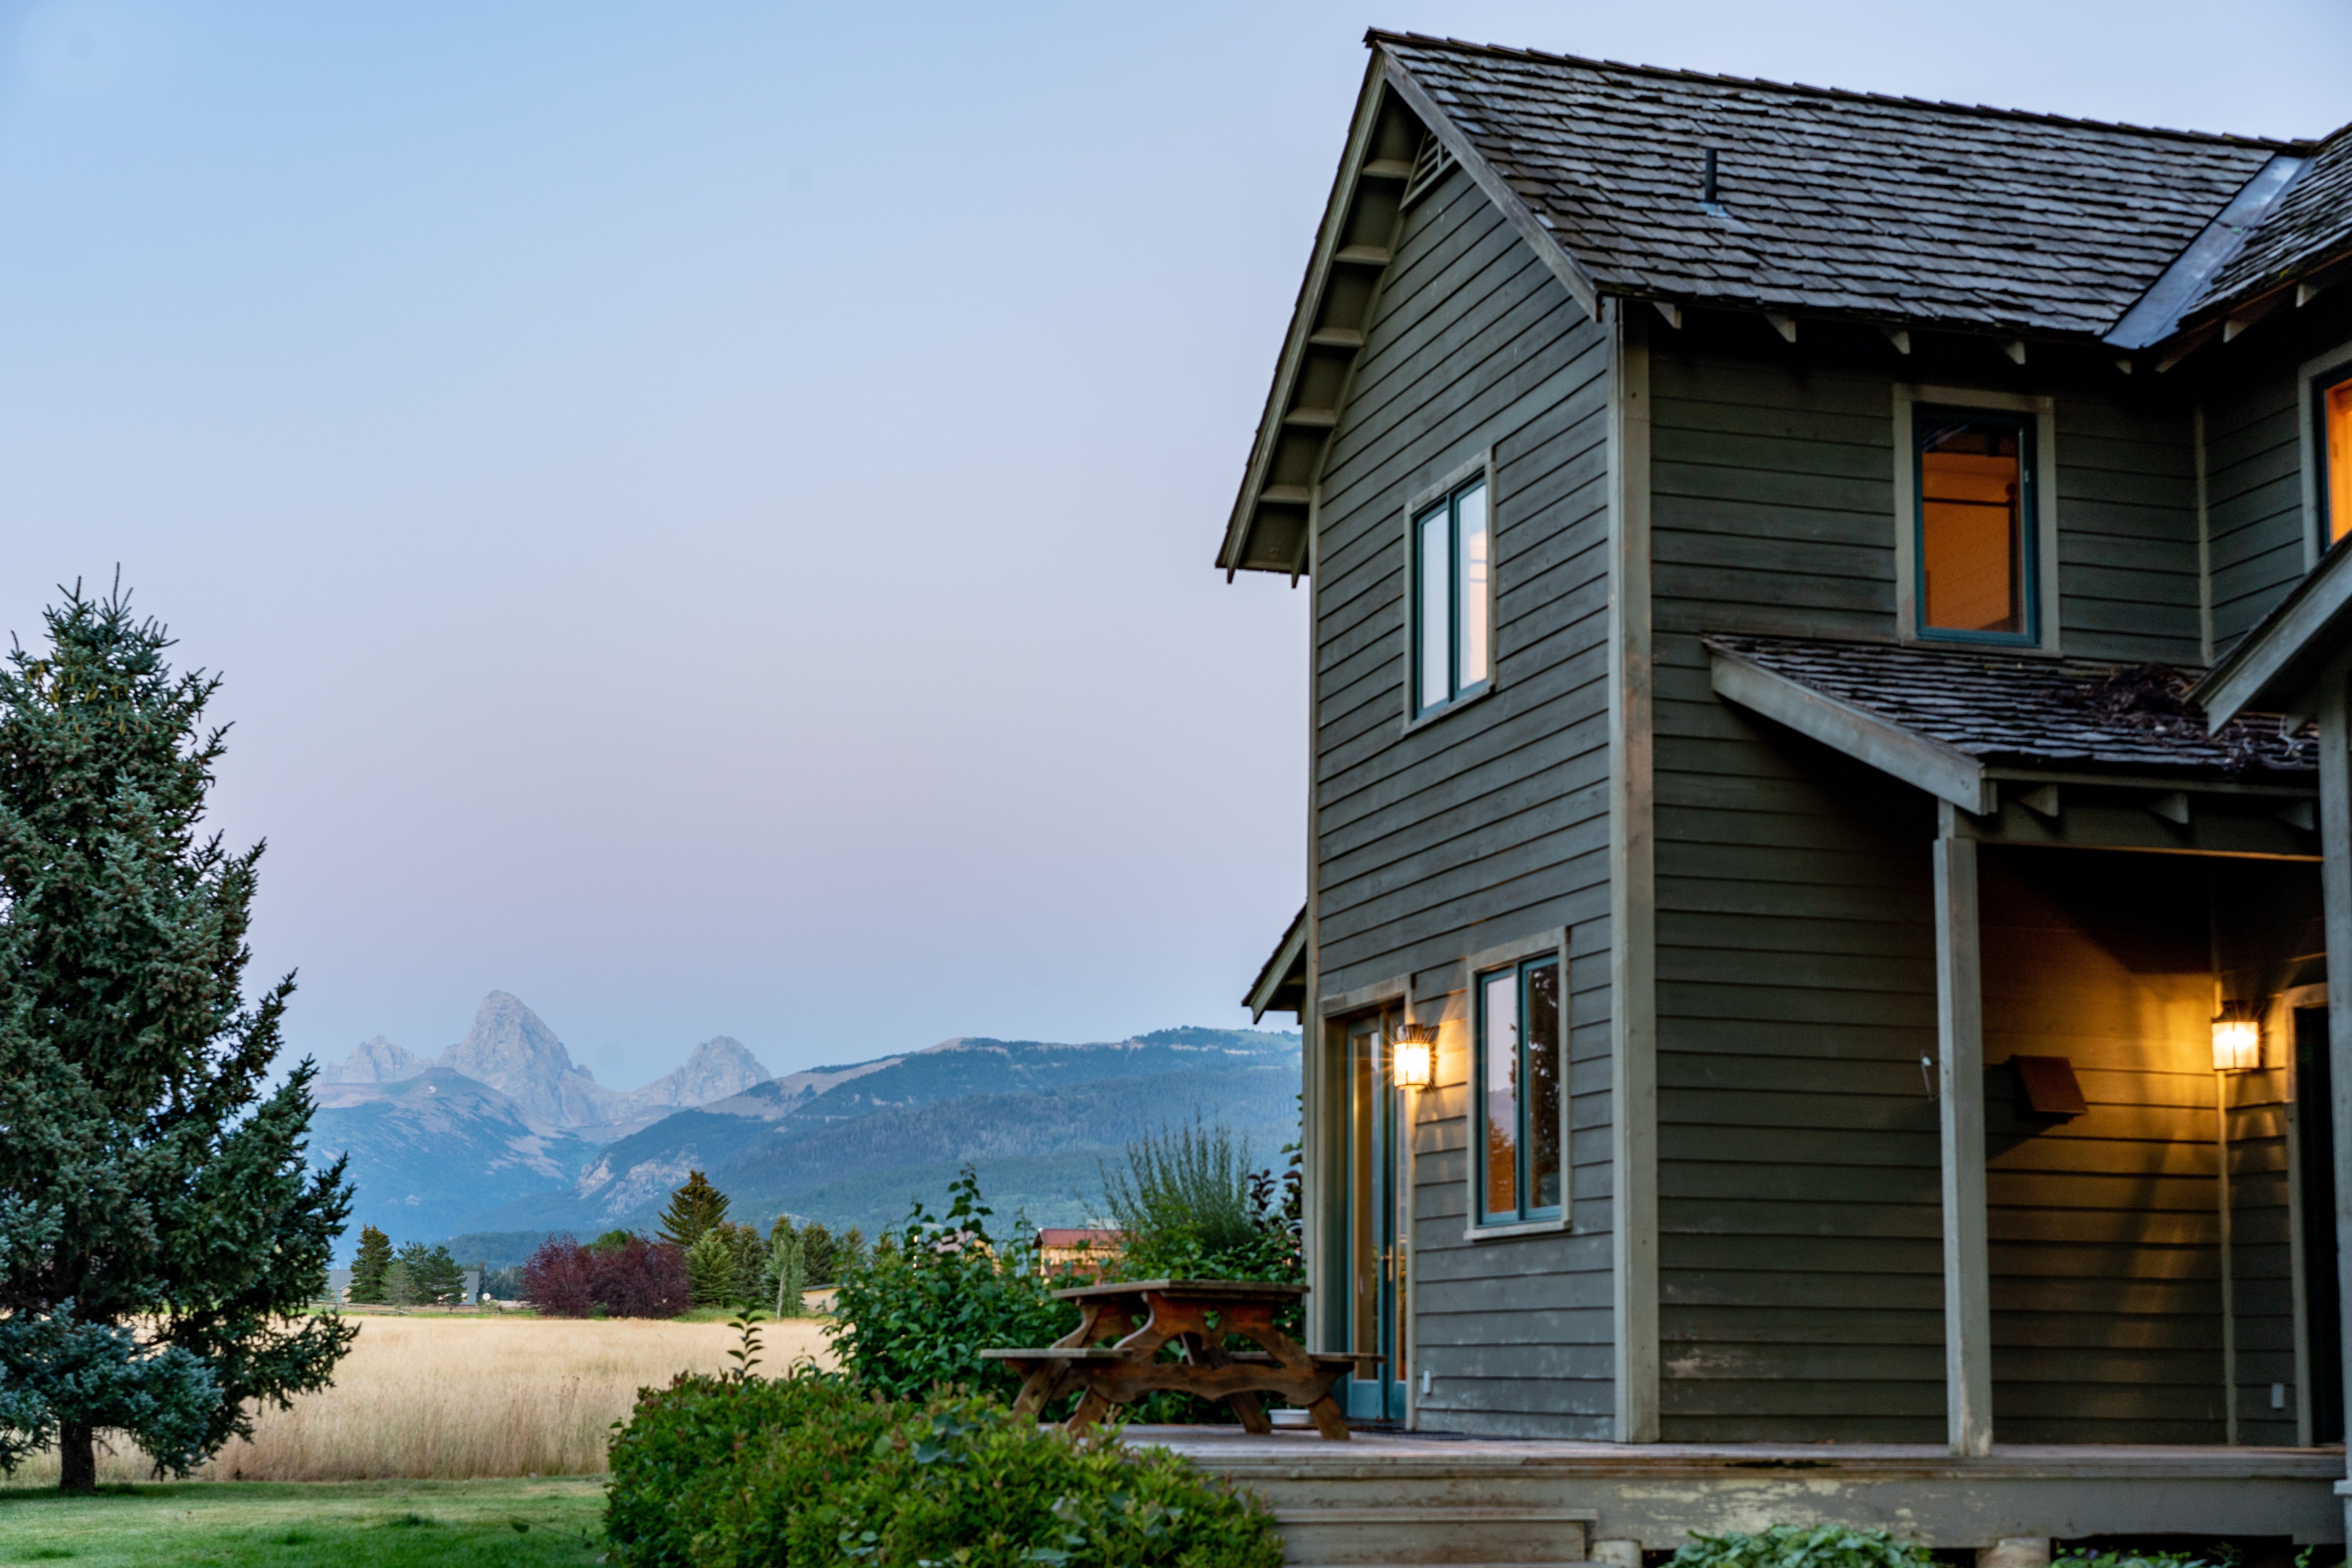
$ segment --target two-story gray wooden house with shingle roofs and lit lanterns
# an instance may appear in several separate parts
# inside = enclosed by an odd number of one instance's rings
[[[1218,552],[1352,1413],[2343,1540],[2352,136],[1369,47]]]

